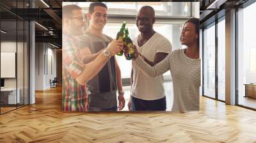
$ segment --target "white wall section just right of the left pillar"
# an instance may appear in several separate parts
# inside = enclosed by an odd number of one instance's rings
[[[36,43],[35,90],[49,89],[50,79],[56,77],[56,49],[52,48],[48,43]]]

